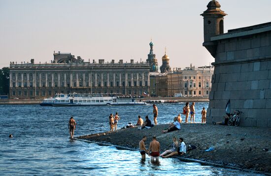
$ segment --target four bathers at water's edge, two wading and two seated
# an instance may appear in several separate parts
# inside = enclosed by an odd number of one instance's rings
[[[143,160],[146,158],[146,153],[151,157],[151,161],[159,161],[159,157],[168,158],[173,155],[184,155],[186,153],[186,144],[183,141],[183,138],[179,138],[179,142],[176,137],[173,137],[173,143],[171,149],[164,151],[160,154],[160,143],[157,141],[156,137],[152,137],[150,142],[149,149],[145,147],[145,141],[147,137],[143,136],[142,140],[139,141],[139,151]]]

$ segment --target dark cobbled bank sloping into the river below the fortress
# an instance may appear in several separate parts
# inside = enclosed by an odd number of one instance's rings
[[[169,148],[172,137],[184,138],[185,143],[197,146],[188,151],[182,161],[197,161],[202,164],[240,169],[253,172],[263,172],[271,175],[271,129],[257,127],[234,127],[210,124],[181,124],[182,129],[163,134],[162,129],[168,124],[157,125],[150,129],[138,130],[128,128],[116,132],[86,135],[78,139],[111,143],[131,149],[138,149],[142,136],[147,136],[148,147],[152,136],[160,141],[161,151]],[[210,146],[213,151],[204,151]],[[265,151],[263,149],[269,149]]]

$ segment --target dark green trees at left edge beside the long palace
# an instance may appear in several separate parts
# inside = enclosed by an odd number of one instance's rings
[[[7,95],[9,89],[9,68],[0,69],[0,95]]]

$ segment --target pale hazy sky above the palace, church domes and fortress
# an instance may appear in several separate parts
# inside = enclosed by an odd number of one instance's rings
[[[271,0],[218,0],[224,30],[271,21]],[[145,61],[152,38],[159,67],[209,65],[202,46],[209,0],[0,0],[0,68],[10,61],[45,63],[53,52],[105,62]]]

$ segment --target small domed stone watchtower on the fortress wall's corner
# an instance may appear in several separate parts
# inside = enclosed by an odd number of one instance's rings
[[[212,36],[224,33],[224,16],[227,14],[220,9],[220,4],[216,0],[211,0],[207,5],[207,10],[201,14],[203,16],[204,42],[203,46],[215,57],[216,42],[211,41]]]

